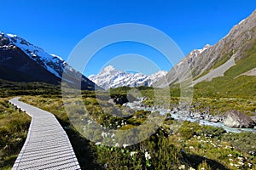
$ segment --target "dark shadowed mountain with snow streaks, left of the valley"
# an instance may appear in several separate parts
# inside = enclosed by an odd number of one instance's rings
[[[59,84],[65,73],[66,82],[83,89],[98,88],[94,82],[75,71],[66,61],[55,54],[27,42],[13,34],[0,31],[0,78],[22,82],[49,82]]]

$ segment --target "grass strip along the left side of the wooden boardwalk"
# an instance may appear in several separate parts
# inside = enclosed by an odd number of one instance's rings
[[[26,140],[31,117],[0,99],[0,168],[10,169]]]

